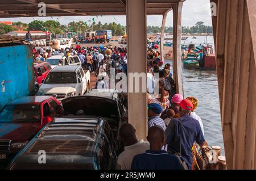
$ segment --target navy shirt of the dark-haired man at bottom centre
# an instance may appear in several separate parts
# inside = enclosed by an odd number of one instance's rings
[[[166,151],[147,150],[135,155],[131,170],[181,170],[179,159]]]

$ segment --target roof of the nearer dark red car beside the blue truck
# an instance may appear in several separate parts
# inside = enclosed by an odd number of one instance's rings
[[[15,99],[8,103],[7,105],[17,105],[17,104],[40,104],[44,100],[52,98],[51,96],[22,96],[21,98]]]

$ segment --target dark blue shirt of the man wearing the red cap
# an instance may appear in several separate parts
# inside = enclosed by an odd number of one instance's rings
[[[181,158],[187,163],[188,168],[192,169],[193,154],[192,147],[196,141],[197,144],[203,144],[204,135],[201,131],[199,121],[193,119],[189,115],[180,117],[182,123],[182,142],[181,142]],[[172,153],[180,152],[180,120],[172,119],[166,128],[166,142],[168,150]]]

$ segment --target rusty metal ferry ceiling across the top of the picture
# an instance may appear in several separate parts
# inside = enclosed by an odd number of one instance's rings
[[[147,15],[163,15],[183,1],[147,0]],[[46,3],[46,16],[126,15],[125,0],[1,0],[0,18],[39,16],[40,2]]]

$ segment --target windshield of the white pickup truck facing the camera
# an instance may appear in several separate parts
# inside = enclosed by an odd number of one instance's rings
[[[44,83],[76,83],[76,73],[50,72]]]

